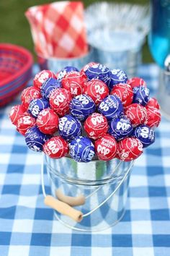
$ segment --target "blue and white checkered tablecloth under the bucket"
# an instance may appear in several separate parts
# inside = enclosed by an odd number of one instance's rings
[[[140,76],[153,94],[156,65],[142,66]],[[8,119],[10,108],[0,110],[0,256],[170,255],[169,121],[162,119],[155,144],[135,162],[122,221],[84,234],[56,221],[53,210],[44,205],[41,154],[27,149]]]

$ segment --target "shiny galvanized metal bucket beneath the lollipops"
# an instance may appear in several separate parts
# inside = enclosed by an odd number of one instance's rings
[[[133,161],[126,163],[115,158],[76,163],[71,158],[54,160],[48,156],[45,161],[53,197],[63,202],[66,198],[68,204],[72,198],[84,199],[74,206],[83,213],[81,222],[55,211],[58,221],[79,231],[101,231],[121,220]]]

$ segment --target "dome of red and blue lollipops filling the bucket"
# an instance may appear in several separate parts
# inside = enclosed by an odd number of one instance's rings
[[[138,158],[161,121],[142,78],[94,62],[36,74],[9,117],[31,150],[77,162]]]

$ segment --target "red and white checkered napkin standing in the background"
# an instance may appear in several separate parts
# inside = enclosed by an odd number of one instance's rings
[[[80,1],[59,1],[30,7],[30,22],[37,55],[71,58],[88,52],[84,6]]]

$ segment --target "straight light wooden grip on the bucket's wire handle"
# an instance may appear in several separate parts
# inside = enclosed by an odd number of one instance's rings
[[[72,208],[70,205],[67,205],[66,202],[55,199],[55,197],[51,195],[47,195],[44,202],[45,205],[50,206],[61,214],[69,216],[76,222],[80,222],[83,219],[83,213],[81,213],[81,211]]]

